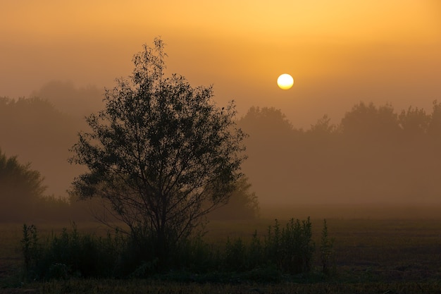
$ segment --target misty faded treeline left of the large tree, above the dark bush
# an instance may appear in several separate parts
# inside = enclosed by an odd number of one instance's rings
[[[69,152],[85,117],[103,107],[97,87],[75,87],[71,82],[51,81],[30,97],[0,100],[0,148],[8,156],[42,173],[46,194],[67,198],[75,176],[84,169],[70,165]]]

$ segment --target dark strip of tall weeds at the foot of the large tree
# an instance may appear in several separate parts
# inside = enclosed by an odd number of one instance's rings
[[[23,226],[22,251],[25,276],[48,281],[66,278],[146,278],[161,276],[173,281],[279,281],[282,274],[311,271],[315,244],[311,221],[291,219],[284,227],[275,220],[266,235],[255,231],[214,247],[201,236],[182,240],[159,260],[154,238],[134,240],[116,231],[105,237],[63,228],[40,238],[33,225]]]

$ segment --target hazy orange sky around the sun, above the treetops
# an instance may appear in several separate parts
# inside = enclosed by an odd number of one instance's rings
[[[168,72],[216,99],[275,106],[294,126],[338,122],[360,101],[441,99],[441,1],[0,0],[0,96],[50,80],[112,86],[161,36]],[[278,75],[294,77],[280,90]]]

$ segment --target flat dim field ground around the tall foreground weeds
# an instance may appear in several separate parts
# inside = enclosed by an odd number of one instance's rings
[[[240,248],[251,248],[256,235],[263,244],[267,240],[269,226],[275,228],[275,221],[269,219],[268,214],[255,221],[207,224],[208,233],[202,238],[204,244],[210,250],[230,250],[232,259],[230,264],[224,260],[223,269],[211,268],[204,272],[175,268],[142,277],[84,278],[78,273],[75,276],[75,273],[64,272],[64,266],[58,264],[58,269],[53,267],[53,270],[58,270],[61,276],[46,281],[34,281],[26,276],[23,243],[20,243],[23,224],[4,223],[0,228],[1,288],[5,293],[25,290],[35,293],[440,293],[440,219],[387,218],[385,215],[374,219],[327,219],[328,241],[333,243],[329,247],[332,255],[328,256],[328,272],[324,273],[323,219],[314,218],[310,223],[315,250],[309,271],[290,274],[290,271],[271,267],[228,268],[240,264]],[[280,229],[290,223],[288,219],[278,222]],[[75,235],[71,223],[37,223],[36,227],[40,240],[63,238],[63,232],[70,237]],[[76,230],[77,235],[108,238],[107,228],[98,223],[77,223]],[[207,260],[201,252],[194,258]]]

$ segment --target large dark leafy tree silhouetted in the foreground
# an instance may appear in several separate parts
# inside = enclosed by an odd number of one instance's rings
[[[245,159],[233,102],[219,109],[212,87],[166,78],[163,49],[156,38],[135,54],[132,76],[106,90],[105,109],[87,118],[91,131],[70,159],[88,169],[73,192],[106,200],[133,238],[153,238],[159,259],[228,202]]]

